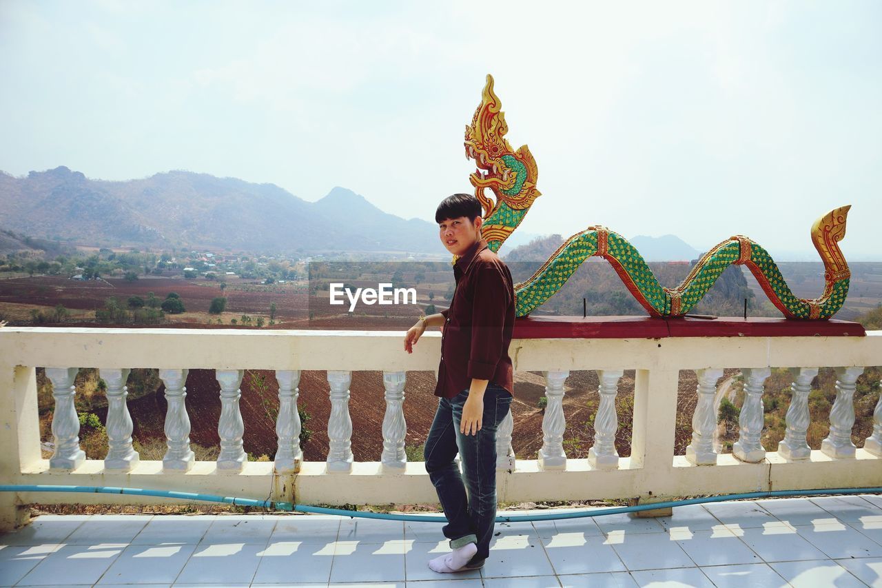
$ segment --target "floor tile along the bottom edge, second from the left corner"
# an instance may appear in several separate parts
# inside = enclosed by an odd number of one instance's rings
[[[65,584],[94,584],[124,548],[124,545],[61,547],[43,558],[18,585],[57,585],[59,578],[64,578]]]

